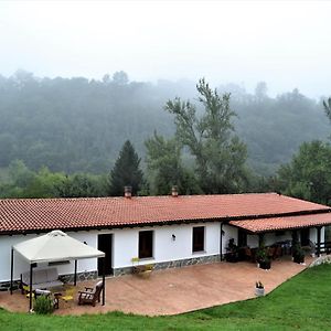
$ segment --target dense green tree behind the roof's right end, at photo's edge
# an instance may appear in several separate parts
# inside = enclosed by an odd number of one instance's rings
[[[278,178],[285,194],[330,204],[331,146],[318,140],[303,142],[291,162],[279,169]]]

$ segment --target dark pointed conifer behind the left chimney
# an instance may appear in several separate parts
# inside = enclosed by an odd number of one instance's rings
[[[119,157],[110,171],[109,194],[114,196],[122,195],[125,186],[132,188],[132,194],[137,194],[143,184],[143,173],[139,168],[140,159],[135,151],[130,140],[127,140]]]

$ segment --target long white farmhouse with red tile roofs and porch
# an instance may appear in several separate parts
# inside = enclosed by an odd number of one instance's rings
[[[321,243],[330,212],[276,193],[0,200],[0,282],[10,279],[11,247],[53,229],[103,250],[106,274],[118,276],[131,273],[132,258],[157,269],[217,261],[231,238],[257,247],[261,238],[271,245],[296,232],[302,244]],[[64,277],[73,274],[72,264],[52,263]],[[100,275],[100,265],[79,260],[81,279]],[[17,256],[14,279],[26,270]]]

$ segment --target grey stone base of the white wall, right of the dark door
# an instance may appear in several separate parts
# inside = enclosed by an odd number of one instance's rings
[[[154,264],[153,269],[161,270],[161,269],[169,269],[169,268],[181,268],[181,267],[200,265],[200,264],[212,264],[212,263],[220,261],[220,259],[221,259],[220,254],[216,254],[216,255],[210,255],[210,256],[201,256],[201,257],[170,260],[170,261]],[[129,274],[132,274],[132,267],[114,269],[115,277],[129,275]]]

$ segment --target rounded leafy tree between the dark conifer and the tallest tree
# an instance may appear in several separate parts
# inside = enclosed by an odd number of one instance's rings
[[[169,194],[173,185],[178,186],[180,194],[201,192],[194,174],[182,166],[181,146],[177,139],[164,139],[154,132],[145,145],[152,194]]]

